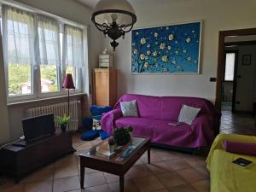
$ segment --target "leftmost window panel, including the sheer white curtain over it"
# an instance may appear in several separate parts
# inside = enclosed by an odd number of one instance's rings
[[[3,9],[3,51],[8,74],[9,96],[32,95],[32,15]]]

